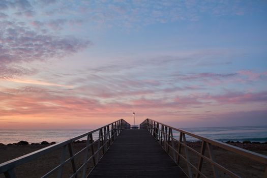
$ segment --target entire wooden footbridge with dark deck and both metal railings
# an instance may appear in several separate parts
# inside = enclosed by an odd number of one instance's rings
[[[173,136],[174,132],[179,135],[177,138]],[[200,140],[199,149],[186,141],[187,136]],[[83,137],[87,138],[84,147],[73,149],[74,142]],[[20,177],[17,167],[58,149],[61,149],[58,165],[46,170],[44,175],[32,177],[241,177],[216,162],[214,149],[224,149],[262,164],[259,177],[267,177],[267,156],[148,118],[140,124],[140,129],[131,129],[130,124],[121,119],[2,163],[0,177],[1,174],[6,178]]]

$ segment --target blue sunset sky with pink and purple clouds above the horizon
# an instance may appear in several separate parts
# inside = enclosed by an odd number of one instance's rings
[[[267,1],[0,0],[0,129],[267,125]]]

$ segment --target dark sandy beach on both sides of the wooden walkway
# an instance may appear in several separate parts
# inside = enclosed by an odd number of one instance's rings
[[[200,142],[188,142],[188,144],[193,147],[196,151],[200,150],[201,143]],[[247,149],[259,154],[267,155],[267,144],[265,143],[230,143],[235,146],[242,147],[243,149]],[[6,162],[8,160],[17,158],[19,156],[37,151],[42,149],[43,147],[49,146],[49,144],[32,144],[32,145],[0,145],[0,163]],[[76,153],[78,150],[81,150],[85,146],[84,142],[74,143],[73,149]],[[263,177],[263,172],[265,165],[255,162],[253,160],[247,159],[243,156],[234,154],[229,151],[225,151],[220,149],[219,147],[214,146],[213,148],[216,161],[221,165],[225,166],[229,170],[237,173],[241,177]],[[183,149],[182,149],[183,154]],[[193,165],[197,165],[198,157],[194,156],[191,152],[190,160]],[[60,162],[61,150],[56,150],[50,154],[40,157],[37,160],[28,162],[16,168],[17,177],[40,177],[44,175],[47,171],[54,168]],[[82,155],[75,160],[77,165],[81,165],[83,162]],[[182,168],[186,170],[186,164],[184,161],[181,161]],[[92,163],[89,164],[87,168],[87,172],[92,169]],[[213,176],[213,171],[210,164],[203,164],[203,171],[207,177]],[[67,164],[64,167],[64,175],[63,177],[68,177],[72,173],[71,164]],[[194,172],[193,172],[194,173]],[[220,177],[229,177],[225,175],[223,172],[219,171]],[[51,177],[55,177],[56,174]],[[4,177],[4,175],[0,175],[0,177]]]

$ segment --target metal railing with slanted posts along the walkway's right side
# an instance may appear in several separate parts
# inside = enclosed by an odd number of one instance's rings
[[[182,169],[188,177],[193,177],[192,168],[196,172],[195,177],[199,178],[206,177],[203,174],[202,167],[203,161],[206,161],[211,164],[213,169],[213,177],[217,178],[218,170],[223,171],[225,174],[230,175],[231,177],[240,177],[236,175],[232,171],[228,170],[221,164],[215,161],[215,156],[213,153],[212,145],[218,146],[224,150],[242,155],[249,159],[255,160],[257,162],[263,163],[265,165],[265,171],[263,177],[267,177],[267,156],[261,155],[258,153],[254,153],[248,150],[241,149],[240,147],[236,147],[230,144],[226,144],[224,142],[220,142],[214,139],[205,138],[181,129],[176,129],[171,126],[167,126],[165,124],[159,123],[157,121],[151,120],[147,118],[140,124],[140,129],[147,129],[149,132],[155,137],[155,139],[159,142],[159,144],[163,147],[163,149],[168,153],[168,155],[173,159],[173,161],[179,165],[181,158],[187,164],[187,170]],[[173,137],[173,131],[177,131],[180,133],[179,140]],[[186,141],[186,135],[197,138],[201,140],[201,149],[200,152],[197,152],[195,149],[190,147]],[[175,144],[178,144],[175,147]],[[184,155],[181,153],[182,146],[184,147]],[[209,153],[209,157],[205,156],[205,149],[207,147],[207,152]],[[198,156],[198,164],[197,167],[190,162],[189,151],[196,154]],[[180,165],[179,165],[180,166]],[[181,167],[181,166],[180,166]]]

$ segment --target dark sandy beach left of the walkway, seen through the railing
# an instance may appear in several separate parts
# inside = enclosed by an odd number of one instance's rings
[[[46,146],[51,144],[31,144],[31,145],[2,145],[0,146],[0,163],[6,162],[8,160],[20,157],[22,155],[40,150]],[[81,149],[85,147],[86,143],[74,143],[73,144],[73,152],[77,153]],[[60,163],[62,149],[58,149],[54,152],[46,154],[34,161],[27,162],[22,164],[16,168],[16,175],[17,177],[41,177],[54,167],[56,167]],[[75,164],[80,166],[83,164],[83,157],[84,153],[81,153],[77,159],[75,159]],[[70,157],[69,153],[66,157]],[[87,168],[87,173],[92,169],[93,164],[90,163]],[[69,177],[73,172],[71,162],[66,163],[64,166],[64,173],[63,177]],[[57,173],[57,172],[56,172]],[[0,177],[4,177],[3,174]],[[56,177],[56,174],[52,174],[50,177]]]

